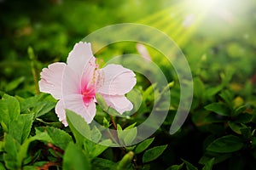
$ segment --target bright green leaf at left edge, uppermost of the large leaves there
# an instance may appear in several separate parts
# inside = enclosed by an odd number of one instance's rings
[[[3,99],[0,100],[0,122],[5,132],[8,132],[9,123],[19,115],[20,104],[18,99],[4,94]]]

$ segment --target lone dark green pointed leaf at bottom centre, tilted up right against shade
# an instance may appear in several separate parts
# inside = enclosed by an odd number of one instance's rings
[[[161,145],[161,146],[155,146],[154,148],[146,150],[145,153],[143,154],[143,163],[146,163],[148,161],[154,161],[166,150],[166,148],[167,148],[167,144]]]

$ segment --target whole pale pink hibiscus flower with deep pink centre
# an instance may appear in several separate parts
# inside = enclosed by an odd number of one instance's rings
[[[40,75],[40,91],[59,99],[55,112],[65,126],[65,109],[76,112],[87,123],[93,120],[96,115],[96,93],[101,94],[106,104],[120,114],[133,108],[125,94],[137,82],[134,72],[113,64],[99,69],[90,43],[76,43],[68,54],[67,64],[51,64]]]

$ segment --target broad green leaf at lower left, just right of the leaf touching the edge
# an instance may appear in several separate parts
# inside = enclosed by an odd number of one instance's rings
[[[11,134],[17,140],[17,142],[22,144],[23,141],[29,136],[32,122],[32,114],[22,114],[17,116],[17,118],[9,124],[9,134]]]

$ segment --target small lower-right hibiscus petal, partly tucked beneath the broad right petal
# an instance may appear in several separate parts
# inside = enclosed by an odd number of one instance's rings
[[[120,114],[123,114],[125,111],[131,111],[133,105],[125,95],[104,95],[102,97],[105,99],[105,102],[108,106],[113,107]]]

